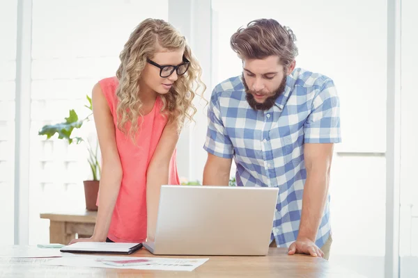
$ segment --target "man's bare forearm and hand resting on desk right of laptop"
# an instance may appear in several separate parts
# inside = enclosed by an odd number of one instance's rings
[[[333,143],[304,145],[307,181],[302,196],[299,234],[295,243],[289,247],[289,254],[306,253],[311,256],[323,256],[323,252],[315,245],[315,239],[328,196],[333,149]]]

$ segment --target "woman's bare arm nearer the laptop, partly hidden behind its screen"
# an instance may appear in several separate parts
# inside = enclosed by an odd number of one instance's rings
[[[160,188],[169,184],[169,164],[178,141],[176,122],[167,124],[148,165],[146,174],[147,240],[153,241],[157,225]]]

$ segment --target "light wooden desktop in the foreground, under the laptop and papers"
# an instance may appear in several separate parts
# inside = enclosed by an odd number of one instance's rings
[[[268,256],[202,256],[209,260],[192,272],[70,268],[0,263],[0,273],[10,277],[354,277],[351,270],[307,255],[288,256],[286,248],[270,248]],[[153,256],[142,249],[130,256]],[[170,257],[170,256],[166,256]],[[199,258],[199,256],[172,256]],[[4,259],[0,259],[2,261]],[[7,276],[6,275],[6,276]],[[31,276],[32,275],[32,276]],[[8,277],[9,277],[8,276]],[[16,277],[17,277],[16,276]]]

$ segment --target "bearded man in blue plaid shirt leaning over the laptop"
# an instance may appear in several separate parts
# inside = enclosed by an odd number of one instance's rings
[[[273,19],[240,28],[231,47],[243,72],[212,92],[203,184],[227,186],[233,158],[238,186],[279,188],[270,246],[328,259],[330,167],[341,142],[334,83],[295,69],[295,36]]]

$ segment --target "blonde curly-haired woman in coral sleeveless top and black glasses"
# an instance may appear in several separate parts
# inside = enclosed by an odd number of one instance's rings
[[[141,22],[120,58],[116,77],[93,88],[102,154],[94,234],[71,243],[153,240],[160,186],[180,184],[176,143],[196,90],[206,89],[185,38],[163,20]]]

